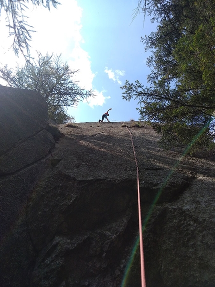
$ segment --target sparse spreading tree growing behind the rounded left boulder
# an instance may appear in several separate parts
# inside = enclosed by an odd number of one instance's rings
[[[36,62],[26,61],[21,68],[9,69],[7,65],[0,68],[0,78],[10,87],[34,90],[42,95],[48,105],[49,118],[57,123],[69,119],[66,107],[93,96],[92,90],[80,88],[72,79],[76,73],[78,71],[62,63],[60,56],[48,54],[38,54]]]

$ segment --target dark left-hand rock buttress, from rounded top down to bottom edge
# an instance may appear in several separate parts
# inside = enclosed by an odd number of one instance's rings
[[[35,264],[26,205],[55,142],[37,93],[0,86],[0,285],[29,286]],[[20,272],[20,270],[22,270]]]

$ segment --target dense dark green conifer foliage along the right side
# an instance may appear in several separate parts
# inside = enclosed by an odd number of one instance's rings
[[[214,146],[213,2],[145,0],[144,9],[152,22],[158,22],[155,32],[141,38],[145,50],[151,52],[149,85],[126,81],[122,97],[138,100],[141,119],[150,121],[163,145]]]

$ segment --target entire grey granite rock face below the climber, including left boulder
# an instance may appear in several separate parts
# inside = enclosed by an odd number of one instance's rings
[[[126,125],[146,286],[215,286],[213,162],[165,152],[150,127],[132,122],[60,125],[54,145],[39,95],[0,88],[0,101],[0,133],[14,122],[0,139],[2,286],[141,285]]]

